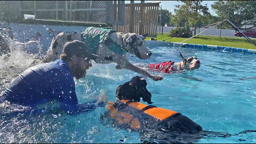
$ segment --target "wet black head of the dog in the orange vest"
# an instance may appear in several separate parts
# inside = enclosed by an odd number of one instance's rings
[[[135,76],[131,81],[119,85],[116,89],[116,97],[119,100],[130,100],[140,102],[140,98],[144,102],[151,102],[151,93],[146,88],[147,82],[144,78]]]

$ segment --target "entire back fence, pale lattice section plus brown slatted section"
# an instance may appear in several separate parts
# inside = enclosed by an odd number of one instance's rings
[[[33,14],[35,19],[109,23],[116,31],[156,37],[159,3],[141,2],[0,1],[0,10],[6,9],[3,18],[23,19],[23,14]]]

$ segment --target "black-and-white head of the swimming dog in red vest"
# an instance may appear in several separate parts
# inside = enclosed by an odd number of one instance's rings
[[[180,57],[182,58],[182,61],[184,63],[183,69],[185,70],[194,70],[198,69],[201,66],[200,61],[197,59],[196,55],[195,57],[189,57],[185,59],[182,54],[180,53]]]

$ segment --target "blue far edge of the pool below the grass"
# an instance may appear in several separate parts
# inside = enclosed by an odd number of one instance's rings
[[[197,50],[210,50],[219,52],[229,52],[229,53],[241,53],[241,54],[256,54],[256,50],[252,49],[241,49],[237,47],[228,46],[217,46],[217,45],[202,45],[202,44],[188,44],[188,43],[173,43],[173,42],[163,42],[163,41],[146,41],[147,46],[166,46],[166,47],[184,47],[187,49],[197,49]]]

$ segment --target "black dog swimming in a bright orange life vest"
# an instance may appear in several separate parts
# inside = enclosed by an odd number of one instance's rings
[[[191,143],[206,134],[221,134],[205,133],[200,125],[176,111],[139,103],[140,98],[149,104],[153,103],[146,86],[146,80],[139,76],[118,86],[118,100],[108,103],[109,110],[105,117],[112,119],[118,127],[140,131],[141,138],[146,139],[143,142],[160,139],[161,143]]]

